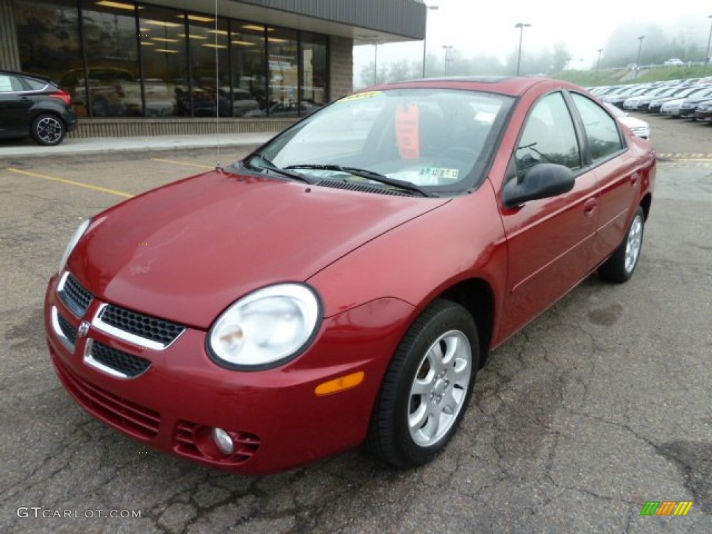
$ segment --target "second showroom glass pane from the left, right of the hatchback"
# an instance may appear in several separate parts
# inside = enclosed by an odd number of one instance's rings
[[[88,97],[80,83],[75,90],[93,117],[143,115],[135,11],[132,2],[82,2]]]

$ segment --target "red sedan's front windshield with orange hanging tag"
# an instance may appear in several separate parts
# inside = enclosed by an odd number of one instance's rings
[[[470,90],[357,93],[313,113],[244,164],[288,169],[317,185],[459,194],[481,181],[512,102]]]

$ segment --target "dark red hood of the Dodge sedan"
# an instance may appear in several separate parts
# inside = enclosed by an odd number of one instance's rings
[[[242,295],[305,281],[447,201],[209,172],[96,216],[68,268],[102,300],[208,328]]]

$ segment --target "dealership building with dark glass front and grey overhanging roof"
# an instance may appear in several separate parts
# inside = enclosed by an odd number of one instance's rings
[[[75,135],[281,130],[350,93],[353,46],[422,40],[421,0],[0,0],[0,68],[72,95]]]

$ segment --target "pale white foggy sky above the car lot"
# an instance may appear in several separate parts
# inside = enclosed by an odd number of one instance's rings
[[[587,68],[596,61],[597,50],[618,26],[631,26],[630,46],[637,48],[637,37],[651,23],[666,35],[697,41],[706,47],[712,19],[712,1],[675,0],[426,0],[439,9],[428,11],[426,46],[431,56],[444,57],[444,45],[451,45],[460,56],[496,56],[504,61],[519,43],[515,23],[531,24],[523,30],[523,51],[551,50],[563,42],[572,63]],[[389,62],[422,58],[423,42],[393,43],[378,47],[379,67]],[[603,51],[605,54],[605,50]],[[374,59],[373,46],[354,48],[354,73]]]

